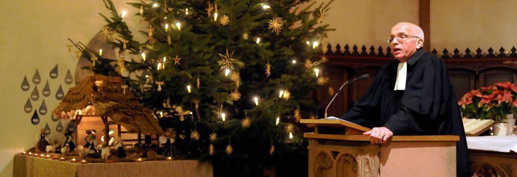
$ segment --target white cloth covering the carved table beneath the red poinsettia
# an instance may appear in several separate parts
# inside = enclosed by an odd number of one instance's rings
[[[468,149],[517,152],[517,135],[509,136],[467,136]]]

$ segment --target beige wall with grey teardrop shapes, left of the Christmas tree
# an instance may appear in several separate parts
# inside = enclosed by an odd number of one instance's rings
[[[127,8],[125,1],[115,3]],[[12,176],[13,155],[34,147],[45,123],[49,123],[52,141],[63,136],[55,131],[57,122],[51,120],[50,112],[59,103],[55,98],[59,84],[65,92],[74,85],[64,83],[67,70],[73,75],[78,61],[75,54],[67,51],[66,45],[70,44],[67,38],[87,44],[105,24],[98,13],[107,10],[102,1],[78,0],[1,1],[0,6],[3,7],[0,10],[0,176]],[[51,79],[49,73],[56,64],[59,76]],[[23,106],[34,88],[31,80],[36,69],[42,81],[37,85],[40,98],[32,101],[33,110],[44,99],[49,113],[40,116],[40,123],[35,126],[30,122],[34,111],[25,113]],[[27,92],[20,88],[25,75],[31,86]],[[43,97],[41,90],[47,80],[51,95]]]

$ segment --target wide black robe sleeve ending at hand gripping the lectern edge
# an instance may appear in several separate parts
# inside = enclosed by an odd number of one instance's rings
[[[439,134],[448,126],[450,88],[445,63],[424,55],[413,66],[397,112],[384,127],[395,135]]]

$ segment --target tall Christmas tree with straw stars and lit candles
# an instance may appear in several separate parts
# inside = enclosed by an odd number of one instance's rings
[[[101,14],[118,59],[74,43],[96,74],[121,76],[180,156],[208,160],[215,174],[307,173],[298,122],[313,117],[329,3],[310,0],[141,1],[147,28],[131,31],[109,0]],[[303,6],[303,8],[301,8]],[[138,41],[132,32],[148,39]],[[72,42],[73,43],[73,42]],[[294,173],[293,173],[294,172]]]

